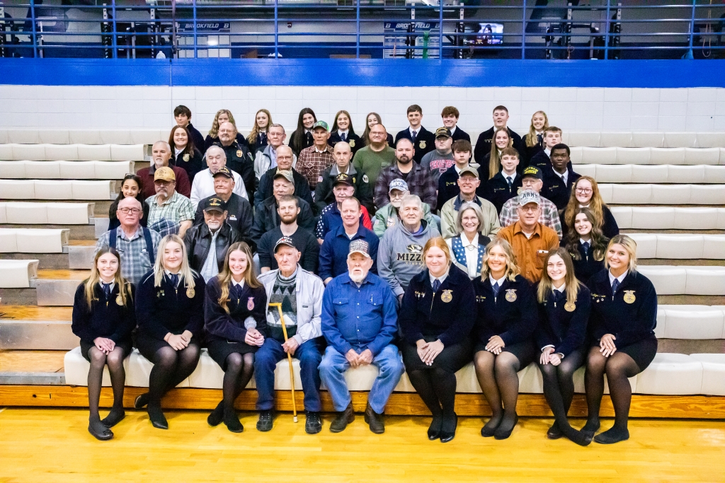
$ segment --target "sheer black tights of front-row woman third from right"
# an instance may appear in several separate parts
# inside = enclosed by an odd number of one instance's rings
[[[494,356],[488,350],[479,350],[473,356],[473,364],[484,397],[491,406],[491,419],[486,426],[497,427],[504,417],[513,422],[518,400],[516,373],[521,369],[521,362],[510,352]]]

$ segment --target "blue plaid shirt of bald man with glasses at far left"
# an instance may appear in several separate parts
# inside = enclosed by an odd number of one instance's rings
[[[94,256],[101,248],[109,246],[111,232],[112,230],[105,232],[98,239]],[[161,235],[154,230],[149,230],[149,232],[151,232],[154,256],[156,256],[158,255]],[[141,232],[141,227],[138,227],[138,230],[136,230],[136,233],[131,238],[126,238],[123,228],[118,227],[116,230],[116,250],[121,257],[121,274],[123,278],[133,283],[133,285],[138,285],[138,282],[141,282],[144,274],[151,270],[153,264],[151,257],[149,257],[149,249],[146,247],[146,239],[144,238],[144,233]]]

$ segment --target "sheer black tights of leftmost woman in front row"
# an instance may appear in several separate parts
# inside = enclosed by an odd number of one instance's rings
[[[88,358],[91,359],[91,369],[88,370],[88,408],[91,410],[91,420],[100,418],[98,407],[103,384],[103,368],[106,365],[113,387],[112,411],[123,411],[123,386],[126,381],[126,373],[123,370],[124,356],[120,347],[114,348],[108,355],[95,346],[88,349]]]

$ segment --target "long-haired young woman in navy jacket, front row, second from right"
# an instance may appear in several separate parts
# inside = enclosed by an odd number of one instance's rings
[[[565,248],[550,251],[537,287],[539,369],[544,377],[544,397],[556,419],[547,432],[550,440],[568,437],[578,445],[592,442],[592,434],[579,432],[566,414],[574,397],[573,374],[584,365],[587,322],[592,303],[589,289],[576,280]]]

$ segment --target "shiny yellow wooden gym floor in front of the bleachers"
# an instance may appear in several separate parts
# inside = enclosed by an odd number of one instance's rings
[[[725,482],[725,421],[632,420],[629,441],[579,448],[547,440],[550,419],[521,419],[496,441],[480,436],[482,419],[461,418],[442,444],[427,440],[424,417],[390,417],[376,435],[359,414],[332,434],[326,415],[310,436],[289,413],[269,433],[241,413],[241,434],[209,427],[206,412],[167,411],[168,431],[144,411],[126,414],[114,440],[99,442],[85,410],[4,409],[0,482]]]

